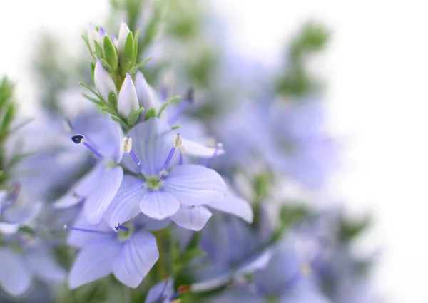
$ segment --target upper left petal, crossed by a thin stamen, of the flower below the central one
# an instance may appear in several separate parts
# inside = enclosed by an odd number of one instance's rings
[[[75,247],[83,247],[91,242],[103,242],[108,239],[116,238],[116,232],[113,232],[106,222],[102,221],[99,225],[92,225],[86,220],[86,217],[78,215],[73,227],[96,232],[82,232],[80,230],[70,230],[68,232],[67,244]],[[101,233],[98,233],[101,232]]]

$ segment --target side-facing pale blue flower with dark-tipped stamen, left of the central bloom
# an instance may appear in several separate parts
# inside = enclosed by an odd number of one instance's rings
[[[93,117],[91,123],[84,128],[80,128],[80,123],[72,127],[79,133],[73,136],[73,142],[91,150],[98,158],[98,163],[66,195],[56,201],[54,207],[70,207],[84,200],[83,210],[87,220],[98,224],[123,179],[123,169],[118,165],[123,156],[123,133],[118,124],[101,115]]]

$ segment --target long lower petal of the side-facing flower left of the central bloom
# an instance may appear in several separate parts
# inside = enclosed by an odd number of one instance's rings
[[[99,224],[111,200],[118,192],[123,179],[123,169],[120,166],[106,167],[98,186],[86,198],[84,210],[88,221]]]

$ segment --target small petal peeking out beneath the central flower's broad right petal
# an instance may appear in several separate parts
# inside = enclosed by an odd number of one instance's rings
[[[211,215],[213,214],[206,207],[181,205],[180,209],[171,216],[171,220],[180,227],[199,231],[203,229]]]

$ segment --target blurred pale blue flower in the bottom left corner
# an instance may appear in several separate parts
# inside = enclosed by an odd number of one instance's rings
[[[24,235],[7,235],[0,245],[0,287],[8,294],[23,294],[34,277],[46,282],[62,282],[66,272],[54,261],[49,246]]]

